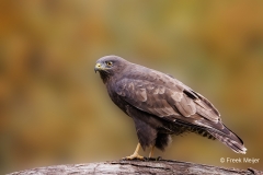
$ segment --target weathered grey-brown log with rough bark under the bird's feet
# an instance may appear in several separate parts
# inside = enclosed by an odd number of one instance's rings
[[[47,167],[37,167],[21,172],[14,172],[9,175],[84,175],[84,174],[183,174],[183,175],[238,175],[238,174],[263,174],[263,172],[248,168],[225,168],[211,165],[195,164],[190,162],[180,162],[171,160],[148,160],[148,161],[111,161],[100,163],[55,165]]]

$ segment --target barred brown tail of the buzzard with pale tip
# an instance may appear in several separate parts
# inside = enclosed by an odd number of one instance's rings
[[[243,141],[226,126],[220,131],[209,129],[208,132],[213,135],[217,140],[229,147],[232,151],[245,154],[247,149],[243,144]]]

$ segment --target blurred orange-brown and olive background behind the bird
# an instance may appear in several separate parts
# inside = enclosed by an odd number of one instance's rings
[[[170,73],[199,92],[248,148],[236,154],[190,133],[156,156],[263,170],[263,1],[2,0],[1,174],[134,152],[134,122],[94,73],[105,55]]]

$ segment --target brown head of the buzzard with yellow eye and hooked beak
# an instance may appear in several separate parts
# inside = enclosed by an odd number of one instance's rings
[[[95,65],[95,72],[99,71],[103,82],[105,83],[108,78],[114,74],[122,73],[122,71],[127,67],[128,61],[118,56],[105,56],[100,58]]]

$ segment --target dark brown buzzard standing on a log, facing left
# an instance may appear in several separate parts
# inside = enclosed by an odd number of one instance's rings
[[[100,58],[94,70],[111,100],[135,122],[139,143],[126,159],[144,159],[140,147],[150,147],[151,158],[155,147],[163,151],[171,135],[184,132],[217,139],[232,151],[245,153],[243,141],[222,124],[216,107],[173,77],[118,56]]]

